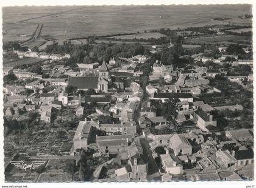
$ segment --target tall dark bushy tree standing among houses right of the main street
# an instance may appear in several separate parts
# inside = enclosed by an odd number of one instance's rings
[[[177,119],[178,113],[178,99],[168,99],[163,103],[162,116],[164,116],[168,121],[175,121]]]

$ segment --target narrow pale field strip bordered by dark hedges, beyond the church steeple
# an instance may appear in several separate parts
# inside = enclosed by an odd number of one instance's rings
[[[134,35],[122,35],[122,36],[111,36],[109,38],[116,38],[116,39],[149,39],[149,38],[160,38],[162,36],[165,36],[161,33],[137,33]]]

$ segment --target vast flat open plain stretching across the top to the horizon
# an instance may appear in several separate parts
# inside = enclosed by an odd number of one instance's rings
[[[43,24],[42,38],[60,43],[70,38],[221,24],[211,19],[223,16],[232,22],[246,13],[251,14],[250,5],[4,7],[4,41],[16,39],[17,30],[32,35],[38,24]]]

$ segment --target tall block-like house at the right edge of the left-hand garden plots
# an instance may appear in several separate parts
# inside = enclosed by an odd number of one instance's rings
[[[73,138],[73,147],[76,149],[87,149],[91,143],[92,122],[80,121]]]

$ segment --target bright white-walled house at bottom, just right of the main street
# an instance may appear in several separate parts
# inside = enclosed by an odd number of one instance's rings
[[[160,155],[162,168],[165,170],[165,173],[170,174],[181,174],[183,173],[183,167],[181,165],[180,159],[171,154],[162,154]]]

